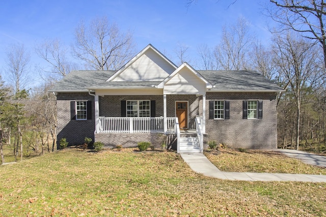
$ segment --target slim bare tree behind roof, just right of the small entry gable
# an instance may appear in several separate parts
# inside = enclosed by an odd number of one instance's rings
[[[199,68],[202,70],[217,70],[217,59],[214,55],[214,50],[208,47],[207,44],[201,44],[197,47],[197,52],[199,53],[201,64]]]

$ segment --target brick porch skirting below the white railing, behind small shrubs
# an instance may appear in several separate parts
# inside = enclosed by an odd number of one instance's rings
[[[161,148],[165,142],[164,133],[96,133],[95,142],[102,142],[106,148],[137,147],[139,142],[150,142],[155,148]]]

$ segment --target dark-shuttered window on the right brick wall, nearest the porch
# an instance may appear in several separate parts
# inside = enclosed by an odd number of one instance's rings
[[[230,101],[209,101],[209,119],[230,119]]]

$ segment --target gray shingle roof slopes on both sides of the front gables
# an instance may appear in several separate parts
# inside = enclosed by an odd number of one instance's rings
[[[88,88],[151,87],[159,81],[108,81],[116,71],[72,71],[49,91],[81,92]],[[280,91],[282,88],[254,71],[198,70],[215,91]]]

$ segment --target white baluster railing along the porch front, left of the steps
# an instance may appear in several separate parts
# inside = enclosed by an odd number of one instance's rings
[[[167,118],[167,133],[175,133],[175,117]],[[164,117],[99,117],[99,133],[164,132]]]

